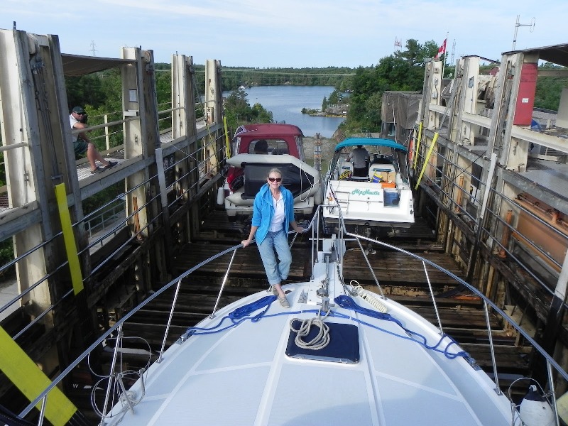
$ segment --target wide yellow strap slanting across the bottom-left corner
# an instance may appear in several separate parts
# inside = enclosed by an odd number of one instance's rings
[[[6,331],[0,327],[0,370],[23,393],[33,401],[47,388],[51,381],[35,362],[24,352]],[[41,403],[37,405],[41,409]],[[64,426],[75,414],[77,408],[59,388],[48,393],[45,417],[55,426]]]

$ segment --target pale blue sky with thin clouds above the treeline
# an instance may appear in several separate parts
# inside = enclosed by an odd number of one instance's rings
[[[62,53],[119,58],[123,46],[226,66],[374,65],[409,38],[500,60],[513,48],[568,43],[567,0],[1,0],[0,28],[56,34]],[[535,18],[534,28],[528,24]],[[526,26],[525,26],[526,25]]]

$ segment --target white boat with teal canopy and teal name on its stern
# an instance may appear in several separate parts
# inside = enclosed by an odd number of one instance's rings
[[[363,146],[368,173],[354,176],[349,153]],[[408,178],[407,148],[383,138],[347,138],[337,144],[325,179],[323,214],[329,224],[341,212],[346,224],[405,228],[414,223],[413,192]]]

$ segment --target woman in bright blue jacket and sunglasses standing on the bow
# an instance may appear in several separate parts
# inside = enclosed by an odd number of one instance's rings
[[[288,278],[292,253],[288,246],[288,229],[292,226],[298,233],[304,232],[294,219],[294,197],[292,192],[282,186],[282,172],[278,168],[268,172],[266,184],[254,197],[253,220],[249,239],[243,240],[243,247],[248,246],[256,235],[256,245],[261,253],[262,263],[283,307],[290,307],[281,283]],[[278,255],[278,261],[276,261]]]

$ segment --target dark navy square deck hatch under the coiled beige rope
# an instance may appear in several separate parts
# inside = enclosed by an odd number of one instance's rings
[[[293,320],[293,327],[300,329],[302,322]],[[342,362],[356,364],[359,362],[359,330],[353,324],[339,324],[326,322],[329,326],[329,344],[322,349],[312,351],[301,348],[295,343],[296,332],[290,329],[286,355],[299,359],[315,359],[318,361]],[[303,342],[310,342],[320,332],[318,327],[312,327],[310,333],[302,338]]]

